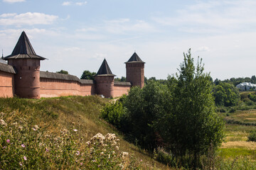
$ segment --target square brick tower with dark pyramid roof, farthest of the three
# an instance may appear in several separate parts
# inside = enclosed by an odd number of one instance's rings
[[[131,82],[132,86],[144,87],[144,64],[136,52],[130,57],[128,62],[125,62],[127,69],[127,81]]]

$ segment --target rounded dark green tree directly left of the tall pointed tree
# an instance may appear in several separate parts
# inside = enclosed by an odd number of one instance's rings
[[[133,142],[142,148],[153,152],[157,147],[158,136],[154,130],[156,115],[165,111],[166,98],[168,98],[167,86],[156,81],[148,81],[148,84],[140,89],[133,87],[124,101],[127,108],[127,121]]]

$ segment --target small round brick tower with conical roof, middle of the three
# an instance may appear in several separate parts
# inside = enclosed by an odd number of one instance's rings
[[[99,71],[95,76],[96,93],[102,94],[106,98],[114,96],[114,77],[106,59],[103,60]]]

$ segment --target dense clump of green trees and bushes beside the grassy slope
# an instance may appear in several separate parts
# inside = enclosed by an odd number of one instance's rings
[[[127,110],[115,112],[119,108],[115,103],[102,115],[149,152],[164,147],[178,164],[199,167],[208,148],[215,150],[222,142],[224,125],[215,113],[210,75],[203,69],[199,60],[194,66],[188,50],[179,73],[169,77],[167,85],[149,81],[143,89],[134,87],[122,98]],[[118,116],[113,117],[113,112]]]

